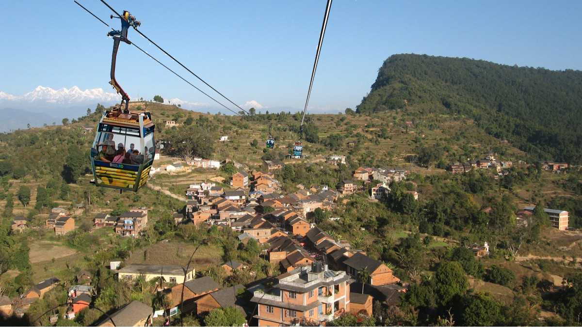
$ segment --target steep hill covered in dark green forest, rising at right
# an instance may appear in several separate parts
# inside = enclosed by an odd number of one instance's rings
[[[528,158],[582,163],[582,72],[402,54],[386,59],[357,112],[406,108],[474,119]]]

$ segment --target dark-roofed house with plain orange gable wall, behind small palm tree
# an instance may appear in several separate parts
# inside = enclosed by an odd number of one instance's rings
[[[356,279],[358,278],[358,273],[366,268],[370,272],[370,278],[368,278],[367,282],[370,285],[387,285],[400,281],[388,266],[362,253],[352,255],[343,264],[346,266],[346,272]]]

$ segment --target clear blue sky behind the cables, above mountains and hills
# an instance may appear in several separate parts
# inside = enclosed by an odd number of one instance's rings
[[[111,11],[100,1],[77,1],[120,29],[119,19],[109,19]],[[108,3],[136,16],[142,33],[243,108],[256,101],[262,112],[303,109],[325,0]],[[115,92],[108,84],[109,28],[73,0],[4,1],[1,8],[0,91],[22,95],[41,85]],[[392,54],[582,70],[581,17],[577,0],[335,0],[308,112],[355,109]],[[212,93],[136,31],[130,29],[129,39]],[[116,77],[132,98],[161,95],[217,106],[131,45],[120,46]]]

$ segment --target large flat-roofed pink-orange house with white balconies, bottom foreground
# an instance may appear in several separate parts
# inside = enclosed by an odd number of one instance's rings
[[[314,262],[251,288],[258,326],[320,325],[350,310],[350,277]]]

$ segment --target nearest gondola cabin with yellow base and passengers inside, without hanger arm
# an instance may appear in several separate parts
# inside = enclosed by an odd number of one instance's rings
[[[96,186],[137,191],[150,176],[155,125],[149,112],[103,113],[91,148]]]

